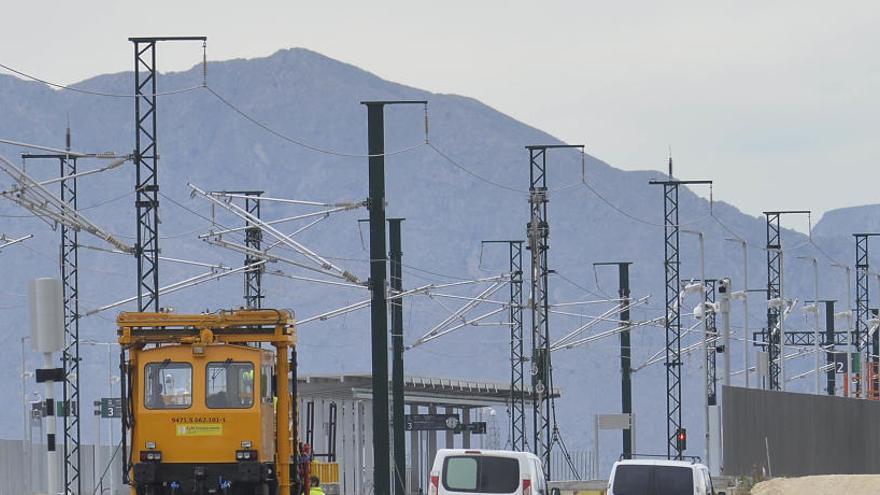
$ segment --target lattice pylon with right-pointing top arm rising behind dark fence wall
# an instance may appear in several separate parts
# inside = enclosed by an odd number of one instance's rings
[[[788,211],[765,211],[767,217],[767,301],[782,299],[782,227],[779,219],[785,214],[805,214],[809,215],[808,210],[788,210]],[[782,376],[782,333],[783,322],[781,320],[784,309],[784,301],[780,304],[767,305],[767,333],[766,349],[767,361],[769,363],[769,389],[783,390],[785,388],[785,379]]]

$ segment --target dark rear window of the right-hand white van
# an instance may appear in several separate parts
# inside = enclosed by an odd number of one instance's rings
[[[694,476],[690,468],[622,464],[614,471],[614,495],[690,495]]]

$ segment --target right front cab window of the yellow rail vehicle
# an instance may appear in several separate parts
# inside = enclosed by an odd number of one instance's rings
[[[253,363],[208,363],[205,405],[211,409],[247,409],[254,405]]]

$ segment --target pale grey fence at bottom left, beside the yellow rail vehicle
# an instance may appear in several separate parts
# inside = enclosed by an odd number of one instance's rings
[[[101,479],[101,472],[107,468],[107,460],[111,456],[111,448],[94,445],[82,445],[82,492],[80,495],[123,495],[128,487],[122,485],[118,458],[112,463],[112,475],[107,472],[103,481],[95,486],[95,480]],[[60,452],[59,452],[60,454]],[[98,455],[100,467],[95,462]],[[54,466],[61,479],[63,456],[58,456]],[[98,472],[101,471],[101,472]],[[28,445],[21,440],[0,440],[0,495],[30,495],[46,493],[46,446]]]

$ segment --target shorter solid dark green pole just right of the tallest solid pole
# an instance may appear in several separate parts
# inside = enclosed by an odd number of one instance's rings
[[[403,249],[401,246],[400,225],[403,218],[389,218],[391,290],[396,294],[403,291]],[[406,495],[406,438],[404,437],[404,393],[403,393],[403,299],[391,301],[391,397],[392,421],[394,427],[394,495]]]

